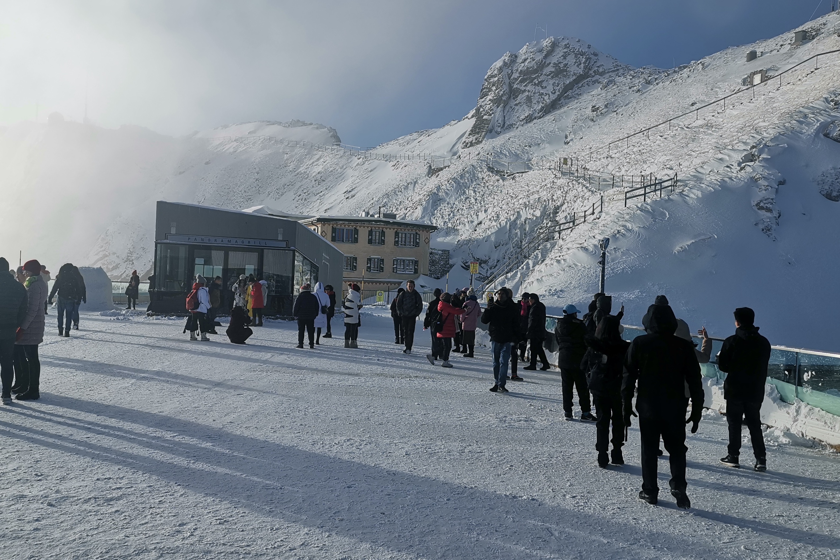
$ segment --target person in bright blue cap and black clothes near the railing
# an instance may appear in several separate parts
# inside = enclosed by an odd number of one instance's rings
[[[590,305],[591,309],[594,309]],[[595,312],[595,311],[591,311]],[[566,420],[574,418],[572,415],[575,393],[577,390],[580,405],[580,421],[594,422],[589,385],[580,371],[580,362],[586,353],[586,326],[577,318],[578,308],[569,304],[563,308],[563,317],[557,320],[554,327],[554,338],[557,338],[557,365],[560,368],[560,382],[563,388],[563,412]],[[595,336],[595,333],[592,333]]]

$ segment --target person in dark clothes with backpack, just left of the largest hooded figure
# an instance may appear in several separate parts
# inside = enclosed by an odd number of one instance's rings
[[[606,468],[624,464],[624,414],[622,410],[622,380],[624,357],[630,343],[622,340],[621,322],[617,317],[604,317],[595,329],[595,337],[586,338],[586,349],[580,362],[580,371],[586,376],[592,393],[596,421],[595,450],[598,466]],[[610,422],[612,421],[612,457],[610,449]]]

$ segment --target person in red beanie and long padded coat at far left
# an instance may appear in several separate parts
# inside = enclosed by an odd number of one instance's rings
[[[15,396],[18,400],[40,398],[41,363],[38,358],[38,345],[44,342],[44,303],[47,301],[47,285],[40,272],[41,264],[37,260],[24,263],[26,315],[15,334],[18,386],[12,386],[12,392],[18,393]]]

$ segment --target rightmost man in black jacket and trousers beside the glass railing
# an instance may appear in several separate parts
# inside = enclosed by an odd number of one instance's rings
[[[761,432],[761,402],[767,381],[770,343],[755,327],[755,312],[749,307],[735,310],[735,334],[723,341],[717,356],[717,368],[727,374],[723,380],[723,398],[727,400],[729,447],[721,463],[739,467],[741,425],[746,421],[753,440],[755,470],[767,470],[767,449]]]

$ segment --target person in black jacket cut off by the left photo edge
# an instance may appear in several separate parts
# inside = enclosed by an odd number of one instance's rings
[[[14,379],[14,338],[24,323],[28,309],[28,292],[9,274],[8,260],[0,257],[0,380],[3,382],[4,405],[12,404]]]

